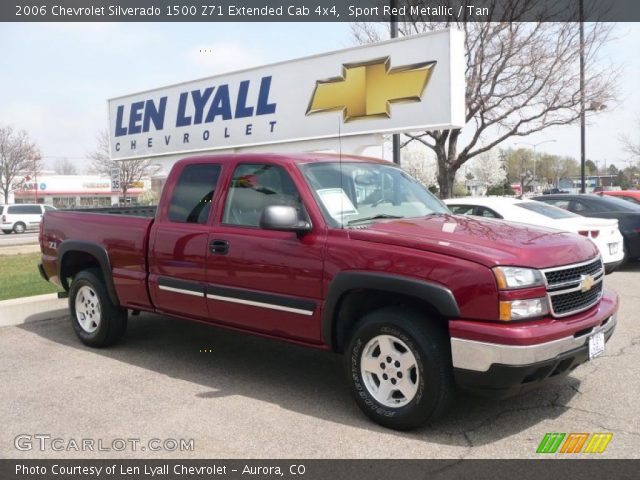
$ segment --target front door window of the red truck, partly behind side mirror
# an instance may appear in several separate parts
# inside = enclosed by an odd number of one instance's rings
[[[298,190],[289,174],[276,165],[238,165],[229,186],[223,223],[257,227],[269,205],[289,205],[302,211]]]

